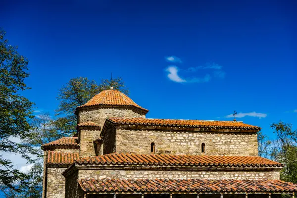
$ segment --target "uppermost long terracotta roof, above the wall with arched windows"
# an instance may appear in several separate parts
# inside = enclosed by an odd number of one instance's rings
[[[108,118],[117,124],[157,125],[157,126],[185,126],[204,128],[234,128],[234,129],[260,129],[260,127],[236,121],[211,121],[211,120],[172,120],[172,119],[151,119],[151,118]]]

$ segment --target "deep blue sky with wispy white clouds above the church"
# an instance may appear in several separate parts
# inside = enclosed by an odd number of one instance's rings
[[[54,113],[72,77],[122,77],[149,118],[297,125],[297,1],[3,1],[29,62],[25,96]]]

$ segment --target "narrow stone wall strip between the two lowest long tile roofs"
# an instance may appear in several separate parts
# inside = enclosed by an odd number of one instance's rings
[[[279,171],[79,170],[79,178],[122,179],[279,179]]]

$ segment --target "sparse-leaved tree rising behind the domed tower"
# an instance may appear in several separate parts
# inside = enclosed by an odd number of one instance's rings
[[[99,85],[94,80],[84,77],[70,79],[58,93],[57,99],[60,100],[60,104],[56,112],[57,115],[62,115],[62,117],[54,121],[53,124],[56,129],[64,132],[65,135],[75,134],[77,116],[74,112],[76,107],[85,104],[99,92],[110,89],[110,87],[126,95],[129,93],[122,78],[103,79]]]

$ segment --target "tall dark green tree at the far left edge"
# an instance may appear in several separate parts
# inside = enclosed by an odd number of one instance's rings
[[[17,47],[8,44],[4,35],[0,30],[0,151],[20,153],[32,162],[29,154],[36,154],[36,149],[10,140],[11,137],[25,139],[31,129],[28,120],[32,118],[33,103],[21,95],[29,89],[24,83],[29,76],[28,60],[17,52]],[[20,185],[28,183],[26,179],[28,175],[14,169],[10,160],[0,156],[0,190],[19,191]]]

